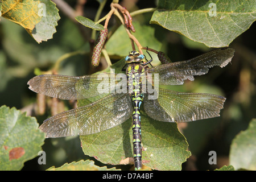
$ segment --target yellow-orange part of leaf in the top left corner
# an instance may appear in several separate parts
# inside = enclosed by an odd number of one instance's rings
[[[32,32],[35,24],[42,17],[38,15],[40,1],[34,0],[6,0],[2,2],[2,16]]]

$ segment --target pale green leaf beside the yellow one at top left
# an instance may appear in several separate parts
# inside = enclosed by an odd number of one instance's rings
[[[55,3],[49,0],[40,1],[38,15],[42,19],[32,30],[32,36],[38,43],[52,39],[52,35],[56,32],[57,21],[60,19]]]

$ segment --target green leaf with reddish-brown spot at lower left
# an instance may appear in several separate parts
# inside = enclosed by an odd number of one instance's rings
[[[15,107],[0,107],[0,170],[19,170],[24,162],[38,156],[44,133],[34,117]]]

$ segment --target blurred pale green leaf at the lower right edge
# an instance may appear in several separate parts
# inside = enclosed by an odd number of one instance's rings
[[[248,129],[233,139],[229,160],[236,170],[256,170],[256,119],[251,120]]]

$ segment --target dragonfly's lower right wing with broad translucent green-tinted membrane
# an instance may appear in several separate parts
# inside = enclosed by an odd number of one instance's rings
[[[220,116],[225,97],[205,93],[183,93],[159,88],[158,99],[146,94],[144,109],[158,121],[189,122]]]

